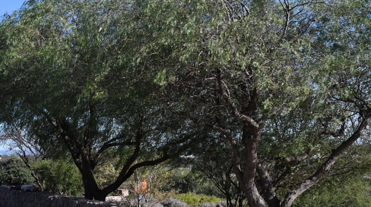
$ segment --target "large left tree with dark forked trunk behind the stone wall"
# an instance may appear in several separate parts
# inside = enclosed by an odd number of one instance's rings
[[[88,199],[104,200],[136,169],[177,156],[194,137],[169,118],[156,101],[156,77],[132,58],[148,41],[135,3],[29,0],[0,24],[0,122],[43,150],[67,151]],[[121,170],[99,188],[93,170],[106,152],[120,155]]]

